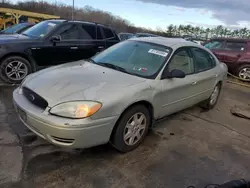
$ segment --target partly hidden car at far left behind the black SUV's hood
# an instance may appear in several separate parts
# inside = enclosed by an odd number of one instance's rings
[[[20,24],[16,24],[16,25],[13,25],[7,29],[4,29],[2,31],[0,31],[0,34],[5,34],[5,35],[8,35],[8,34],[20,34],[22,32],[24,32],[25,30],[31,28],[32,26],[34,26],[35,24],[34,23],[20,23]]]

